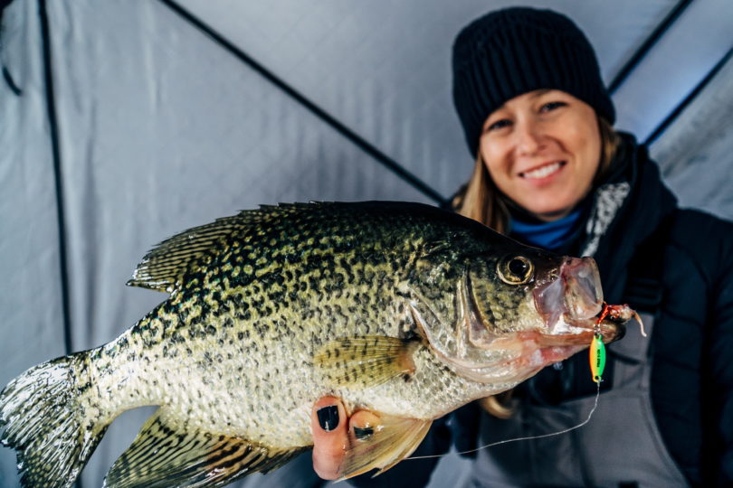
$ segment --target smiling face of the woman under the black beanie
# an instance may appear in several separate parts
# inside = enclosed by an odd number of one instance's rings
[[[480,151],[501,192],[538,219],[555,221],[591,189],[601,159],[598,119],[564,91],[530,91],[490,114]]]

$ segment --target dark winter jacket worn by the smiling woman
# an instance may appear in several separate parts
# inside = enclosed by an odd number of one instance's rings
[[[733,224],[678,209],[657,165],[632,136],[623,135],[613,168],[591,197],[585,225],[561,253],[594,256],[608,303],[656,312],[650,390],[664,444],[690,484],[733,486]],[[661,287],[650,288],[650,273],[651,283]],[[604,379],[613,375],[613,353],[609,357]],[[549,403],[592,395],[588,374],[581,353],[563,368],[540,371],[516,395],[519,401]],[[445,452],[451,437],[459,450],[476,446],[481,415],[486,414],[471,404],[453,414],[452,429],[436,422],[418,453]],[[623,426],[618,431],[633,436]],[[598,453],[603,454],[589,458],[602,463],[613,455],[604,446]],[[428,482],[435,463],[401,463],[376,483],[362,476],[355,484],[419,486]]]

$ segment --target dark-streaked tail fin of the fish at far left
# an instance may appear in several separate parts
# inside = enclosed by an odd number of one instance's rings
[[[34,366],[0,391],[0,442],[15,449],[24,487],[66,488],[74,483],[109,421],[83,415],[89,352]]]

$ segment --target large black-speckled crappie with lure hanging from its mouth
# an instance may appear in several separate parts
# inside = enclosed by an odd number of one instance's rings
[[[529,248],[410,202],[241,211],[164,240],[129,286],[167,299],[118,338],[34,366],[0,392],[23,486],[69,487],[123,411],[157,406],[109,488],[224,486],[312,446],[332,395],[379,424],[349,434],[343,477],[410,455],[436,418],[515,387],[601,334],[592,258]]]

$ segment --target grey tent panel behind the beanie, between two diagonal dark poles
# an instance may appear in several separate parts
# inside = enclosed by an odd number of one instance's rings
[[[555,8],[584,28],[610,80],[675,4],[178,2],[443,195],[472,164],[451,95],[452,41],[463,25],[501,6]]]

